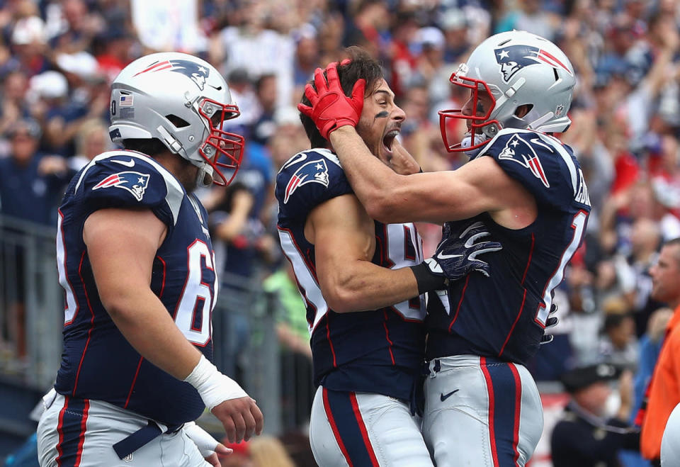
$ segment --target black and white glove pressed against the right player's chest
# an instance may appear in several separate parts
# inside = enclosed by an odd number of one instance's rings
[[[480,271],[488,277],[489,264],[477,257],[503,248],[499,242],[478,241],[490,235],[481,222],[455,231],[450,223],[446,223],[442,233],[443,240],[434,256],[411,268],[418,282],[418,293],[440,290],[446,286],[446,281],[457,281],[472,271]]]

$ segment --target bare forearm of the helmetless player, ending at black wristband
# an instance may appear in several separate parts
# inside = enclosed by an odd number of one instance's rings
[[[336,313],[376,310],[418,296],[418,283],[410,268],[386,269],[358,261],[356,268],[329,274],[326,287],[322,281],[322,293]]]

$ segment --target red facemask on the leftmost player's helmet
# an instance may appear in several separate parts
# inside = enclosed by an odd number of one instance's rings
[[[222,104],[212,99],[200,101],[198,113],[205,118],[210,129],[210,135],[198,149],[198,154],[212,168],[212,182],[227,186],[239,170],[245,141],[241,135],[222,130],[222,126],[226,120],[236,118],[241,113],[238,106]]]

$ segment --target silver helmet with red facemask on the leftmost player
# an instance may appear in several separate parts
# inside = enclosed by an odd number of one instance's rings
[[[227,82],[193,55],[161,52],[128,64],[111,84],[111,140],[157,138],[199,168],[198,186],[228,185],[244,138],[222,130],[240,115]]]

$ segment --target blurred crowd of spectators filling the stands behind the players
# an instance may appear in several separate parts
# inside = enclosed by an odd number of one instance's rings
[[[572,61],[573,124],[558,136],[574,148],[593,203],[555,296],[557,337],[530,369],[554,381],[577,366],[614,364],[639,376],[641,393],[652,370],[645,355],[672,314],[650,298],[650,266],[664,240],[680,237],[674,0],[0,1],[0,213],[54,227],[70,177],[113,149],[108,84],[120,69],[158,50],[203,57],[241,109],[229,130],[246,137],[236,182],[198,193],[222,293],[253,282],[277,293],[280,340],[309,359],[273,199],[278,168],[309,147],[295,108],[305,83],[344,47],[365,47],[407,113],[404,147],[425,171],[455,169],[465,161],[444,150],[437,111],[460,108],[465,96],[448,78],[481,40],[513,28],[553,40]],[[439,227],[420,229],[433,252]],[[247,323],[238,328],[245,342]]]

